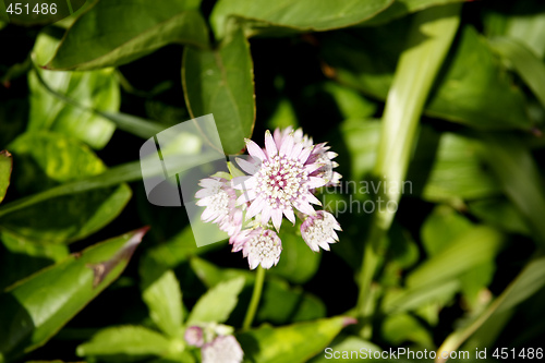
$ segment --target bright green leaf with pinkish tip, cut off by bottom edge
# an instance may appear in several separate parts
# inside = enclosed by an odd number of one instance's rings
[[[259,363],[300,363],[322,352],[352,319],[343,316],[274,328],[262,326],[237,335],[244,358]]]

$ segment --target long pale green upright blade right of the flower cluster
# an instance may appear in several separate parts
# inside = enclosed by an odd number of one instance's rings
[[[414,149],[419,121],[433,82],[452,43],[459,24],[459,4],[433,7],[419,12],[409,31],[408,45],[399,59],[386,99],[374,179],[385,183],[378,195],[386,206],[397,205],[403,179]],[[380,190],[383,190],[380,187]],[[383,204],[384,206],[384,204]],[[397,208],[376,208],[364,245],[358,314],[363,323],[361,335],[371,336],[373,315],[372,281],[383,259],[378,249],[388,232]]]

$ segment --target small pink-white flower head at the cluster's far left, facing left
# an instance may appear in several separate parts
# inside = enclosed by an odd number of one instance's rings
[[[199,198],[196,204],[206,207],[201,219],[218,223],[219,229],[230,237],[237,234],[242,228],[242,210],[237,208],[237,193],[230,182],[213,177],[201,180],[198,185],[203,189],[195,194]]]

